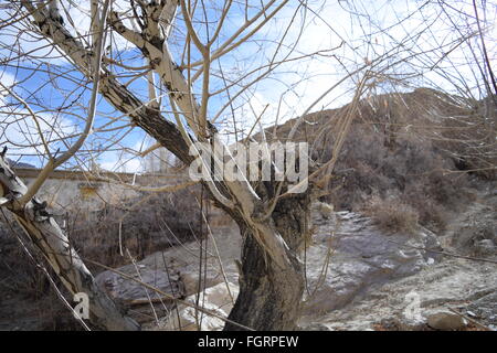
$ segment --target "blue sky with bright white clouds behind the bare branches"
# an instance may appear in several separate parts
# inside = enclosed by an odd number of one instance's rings
[[[63,3],[67,28],[74,35],[84,39],[89,29],[89,1]],[[127,3],[115,1],[115,8],[125,11]],[[204,17],[211,20],[210,33],[219,20],[215,6],[221,2],[213,3],[205,12],[195,12],[194,20],[198,20],[195,23],[201,38],[208,35],[205,26],[200,23]],[[258,6],[260,1],[254,1],[256,8],[255,3]],[[289,1],[251,41],[213,63],[211,92],[223,88],[225,82],[235,81],[237,84],[211,98],[209,115],[215,119],[221,132],[226,133],[225,139],[232,142],[233,131],[236,130],[240,138],[241,131],[246,133],[258,118],[261,125],[267,127],[308,110],[347,104],[366,69],[378,75],[369,94],[410,90],[416,86],[434,86],[457,93],[457,83],[463,81],[478,96],[475,75],[479,78],[479,74],[474,64],[475,56],[459,40],[475,30],[472,1],[455,0],[443,7],[440,3],[433,0]],[[497,31],[493,24],[496,23],[497,4],[495,1],[478,1],[478,4],[487,51],[495,64]],[[12,17],[20,17],[20,13],[0,7],[3,23]],[[244,19],[243,7],[235,2],[219,42],[236,31]],[[454,30],[455,26],[458,31]],[[181,62],[184,32],[179,18],[169,46],[177,62]],[[118,35],[113,35],[110,42],[115,57],[127,65],[144,65],[133,45]],[[472,41],[478,57],[479,43],[477,38]],[[29,53],[30,58],[21,60],[20,53]],[[51,150],[55,151],[59,148],[64,150],[60,141],[62,136],[74,135],[84,125],[91,84],[53,50],[51,43],[25,31],[25,24],[2,26],[0,55],[6,63],[0,64],[0,82],[3,85],[0,86],[1,142],[8,138],[14,142],[11,147],[18,158],[41,165],[43,158],[39,156],[43,156],[43,148],[30,147],[40,145],[35,120],[30,117],[27,106],[3,87],[9,87],[30,105],[39,119],[40,129],[52,141]],[[192,56],[194,61],[198,53],[193,51]],[[254,82],[263,73],[261,67],[266,68],[268,63],[275,62],[283,63],[276,65],[269,75]],[[473,64],[468,65],[468,62]],[[353,74],[356,71],[358,73]],[[253,74],[245,77],[248,72]],[[123,75],[123,72],[118,74]],[[120,78],[128,82],[131,77]],[[395,78],[402,78],[406,85],[399,86]],[[146,84],[146,76],[137,77],[129,83],[129,88],[147,99]],[[201,79],[194,84],[193,92],[200,92],[200,85]],[[232,97],[236,99],[226,104]],[[167,105],[163,108],[168,110]],[[83,149],[105,149],[105,152],[82,153],[66,167],[83,164],[83,168],[88,168],[93,158],[108,170],[142,170],[145,162],[136,152],[145,150],[154,141],[139,129],[127,125],[126,117],[120,117],[101,99],[94,135]],[[256,126],[254,130],[258,129],[260,126]]]

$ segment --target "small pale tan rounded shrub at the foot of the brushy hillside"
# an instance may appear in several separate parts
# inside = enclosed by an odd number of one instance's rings
[[[417,227],[417,212],[398,199],[372,196],[363,211],[384,231],[413,233]]]

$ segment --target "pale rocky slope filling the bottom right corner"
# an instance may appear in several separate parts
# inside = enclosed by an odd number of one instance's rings
[[[444,256],[413,276],[372,286],[369,293],[343,308],[303,318],[303,325],[321,330],[430,330],[430,318],[452,312],[465,317],[468,328],[497,330],[496,206],[495,193],[485,191],[438,236],[445,253],[470,258]],[[487,244],[484,253],[479,246],[483,240]],[[410,314],[413,304],[419,307],[417,318]],[[461,329],[458,320],[452,320],[454,325],[448,328]]]

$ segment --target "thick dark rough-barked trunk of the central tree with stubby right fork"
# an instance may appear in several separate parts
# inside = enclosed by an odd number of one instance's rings
[[[244,237],[240,293],[229,319],[254,330],[294,330],[299,315],[304,292],[303,266],[299,248],[307,233],[309,197],[295,195],[279,202],[273,213],[272,226],[289,246],[287,255],[292,266],[282,268],[271,264],[246,226],[241,224]],[[226,323],[225,331],[240,330]]]

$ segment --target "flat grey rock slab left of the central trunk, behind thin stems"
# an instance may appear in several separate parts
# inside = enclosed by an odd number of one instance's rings
[[[240,236],[230,233],[216,235],[220,257],[223,264],[224,274],[231,282],[237,282],[237,271],[233,258],[240,254]],[[230,244],[231,246],[226,246]],[[135,279],[141,280],[154,288],[166,292],[175,298],[184,298],[198,291],[199,280],[202,288],[210,288],[224,281],[223,270],[220,259],[213,247],[212,238],[208,242],[207,260],[202,259],[202,274],[199,276],[199,253],[200,245],[197,242],[187,243],[180,246],[168,248],[147,256],[145,259],[118,268],[118,271]],[[204,252],[203,252],[204,253]],[[204,256],[204,255],[203,255]],[[134,300],[147,300],[161,297],[154,290],[146,289],[136,280],[121,277],[113,271],[104,271],[96,276],[96,281],[104,287],[107,292],[118,301],[125,303]],[[147,296],[148,292],[148,296]]]

